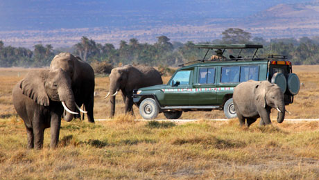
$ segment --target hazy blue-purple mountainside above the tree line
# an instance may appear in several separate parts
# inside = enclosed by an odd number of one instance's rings
[[[5,0],[0,17],[0,40],[26,47],[71,46],[83,35],[114,45],[133,37],[153,43],[160,35],[201,42],[227,28],[265,39],[319,35],[319,1]]]

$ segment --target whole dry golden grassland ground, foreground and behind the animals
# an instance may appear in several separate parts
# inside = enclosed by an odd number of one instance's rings
[[[26,130],[12,106],[12,87],[31,69],[0,69],[0,179],[319,179],[319,122],[239,127],[223,111],[188,112],[194,123],[135,121],[121,114],[108,121],[62,121],[60,142],[26,149]],[[319,66],[294,66],[304,84],[286,118],[319,118]],[[169,77],[164,77],[167,82]],[[96,78],[94,116],[110,113],[107,77]],[[163,119],[161,114],[159,119]]]

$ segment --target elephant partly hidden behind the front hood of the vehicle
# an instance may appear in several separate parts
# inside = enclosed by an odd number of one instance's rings
[[[150,66],[144,65],[126,65],[112,69],[110,73],[110,96],[111,111],[110,117],[115,114],[115,96],[121,90],[123,101],[125,102],[125,113],[133,112],[133,89],[141,87],[150,87],[157,84],[163,84],[160,72]]]

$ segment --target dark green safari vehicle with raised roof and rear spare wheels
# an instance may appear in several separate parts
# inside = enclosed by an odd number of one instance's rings
[[[291,62],[284,55],[257,55],[262,45],[250,44],[204,44],[207,49],[202,60],[182,64],[167,84],[144,87],[133,92],[133,101],[141,116],[154,119],[159,113],[169,119],[177,119],[182,111],[223,110],[227,118],[235,118],[232,101],[234,87],[248,80],[268,80],[276,83],[284,93],[285,104],[293,103],[300,89],[298,75],[293,73]],[[230,58],[209,60],[207,54],[213,49],[223,52],[234,50],[239,54]],[[241,57],[248,50],[252,56]],[[219,50],[221,51],[221,50]],[[216,51],[217,52],[217,51]]]

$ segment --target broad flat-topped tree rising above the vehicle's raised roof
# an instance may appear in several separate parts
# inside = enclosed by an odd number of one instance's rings
[[[252,35],[240,28],[227,28],[222,33],[222,40],[225,44],[245,44],[250,41]]]

